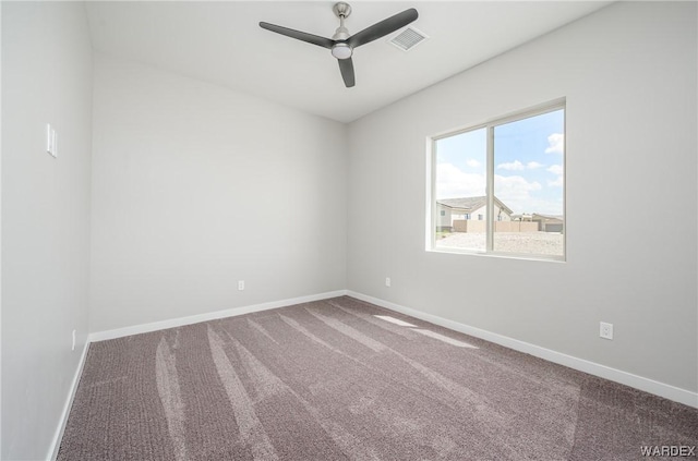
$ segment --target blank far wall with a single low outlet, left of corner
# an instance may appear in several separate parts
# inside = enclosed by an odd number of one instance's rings
[[[345,125],[104,56],[94,85],[92,331],[346,287]]]

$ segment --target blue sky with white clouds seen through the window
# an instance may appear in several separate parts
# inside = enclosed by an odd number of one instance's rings
[[[494,194],[515,214],[563,214],[564,111],[494,129]],[[486,129],[436,142],[436,198],[485,195]]]

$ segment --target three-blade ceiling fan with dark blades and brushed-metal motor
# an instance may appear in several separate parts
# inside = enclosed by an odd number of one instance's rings
[[[337,61],[339,62],[339,71],[341,72],[341,77],[344,78],[347,88],[352,87],[356,83],[353,75],[353,62],[351,61],[353,49],[384,37],[398,28],[405,27],[419,16],[417,10],[410,8],[409,10],[405,10],[401,13],[388,17],[387,20],[373,24],[354,35],[349,35],[349,31],[345,27],[345,20],[351,14],[351,7],[349,3],[335,3],[333,11],[335,12],[335,15],[339,17],[339,27],[337,27],[337,31],[335,31],[335,35],[333,35],[332,38],[325,38],[318,35],[308,34],[305,32],[294,31],[292,28],[265,22],[261,22],[260,27],[332,50],[332,56],[337,58]]]

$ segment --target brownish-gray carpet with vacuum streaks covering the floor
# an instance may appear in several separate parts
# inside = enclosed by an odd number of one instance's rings
[[[619,460],[698,410],[337,298],[93,343],[59,460]]]

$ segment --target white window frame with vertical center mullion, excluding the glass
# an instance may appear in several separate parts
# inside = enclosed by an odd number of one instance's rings
[[[535,116],[542,116],[556,110],[564,110],[563,126],[565,132],[563,148],[563,254],[562,255],[539,255],[528,253],[510,253],[494,251],[494,129],[498,125],[516,122]],[[468,248],[443,248],[436,247],[436,214],[432,211],[436,209],[436,142],[446,137],[456,136],[476,130],[486,129],[486,244],[485,250],[468,250]],[[497,117],[484,123],[470,125],[440,133],[426,138],[426,247],[428,252],[436,253],[455,253],[466,255],[484,255],[495,257],[506,257],[514,259],[534,259],[534,260],[567,260],[567,104],[565,98],[556,99],[533,108],[517,111],[504,117]]]

